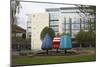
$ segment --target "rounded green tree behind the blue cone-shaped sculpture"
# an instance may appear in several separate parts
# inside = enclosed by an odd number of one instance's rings
[[[44,37],[45,37],[45,35],[46,35],[47,33],[50,35],[50,37],[51,37],[52,39],[54,38],[54,36],[55,36],[54,30],[51,29],[51,28],[49,28],[49,27],[45,27],[45,28],[41,31],[41,34],[40,34],[41,40],[44,39]]]

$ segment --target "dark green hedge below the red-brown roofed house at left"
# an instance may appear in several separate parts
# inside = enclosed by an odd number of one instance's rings
[[[12,50],[31,49],[31,39],[12,37]]]

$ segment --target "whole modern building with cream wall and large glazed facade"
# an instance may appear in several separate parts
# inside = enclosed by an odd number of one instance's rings
[[[88,21],[95,24],[94,18],[93,15],[85,16],[77,7],[47,8],[45,13],[34,13],[31,16],[26,37],[31,37],[31,49],[41,50],[40,33],[45,26],[52,28],[56,34],[70,33],[75,38],[80,29],[88,30]]]

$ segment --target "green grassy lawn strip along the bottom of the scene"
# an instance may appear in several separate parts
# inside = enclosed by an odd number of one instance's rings
[[[78,55],[78,56],[13,56],[12,64],[28,65],[28,64],[54,64],[54,63],[69,63],[69,62],[83,62],[95,61],[95,55]]]

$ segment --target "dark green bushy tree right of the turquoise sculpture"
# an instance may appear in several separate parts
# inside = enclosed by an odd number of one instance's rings
[[[88,44],[88,45],[92,45],[95,46],[95,32],[91,32],[91,31],[80,31],[77,35],[76,35],[76,41],[80,44]]]

